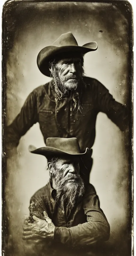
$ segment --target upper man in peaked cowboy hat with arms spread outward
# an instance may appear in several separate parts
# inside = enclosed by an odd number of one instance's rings
[[[96,42],[78,46],[73,34],[68,32],[40,51],[39,70],[52,80],[29,94],[20,113],[7,127],[7,151],[17,147],[20,138],[37,122],[44,141],[48,137],[76,137],[81,152],[94,144],[96,117],[100,111],[122,131],[126,130],[126,107],[116,102],[99,81],[83,76],[83,55],[95,50]],[[91,165],[92,160],[88,164],[88,175]]]

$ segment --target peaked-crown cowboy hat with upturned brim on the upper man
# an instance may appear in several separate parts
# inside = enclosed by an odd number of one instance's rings
[[[52,45],[44,47],[37,56],[37,66],[44,75],[50,77],[49,61],[56,54],[79,51],[82,54],[97,50],[97,43],[90,42],[83,46],[78,43],[71,32],[62,34]]]

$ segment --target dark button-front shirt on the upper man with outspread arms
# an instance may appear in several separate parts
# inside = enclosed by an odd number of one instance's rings
[[[74,110],[74,101],[56,96],[52,81],[37,87],[27,97],[20,113],[7,127],[8,147],[16,147],[19,139],[39,122],[44,141],[48,137],[78,139],[83,152],[93,146],[95,140],[96,117],[99,112],[107,116],[122,130],[126,129],[126,107],[116,102],[109,91],[99,81],[83,77],[86,88],[80,99],[81,112]]]

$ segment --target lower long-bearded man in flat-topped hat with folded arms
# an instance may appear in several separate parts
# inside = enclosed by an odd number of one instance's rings
[[[110,229],[94,187],[80,176],[89,149],[81,153],[77,138],[48,138],[46,147],[31,152],[47,158],[50,181],[31,198],[23,239],[33,241],[36,255],[94,255]]]

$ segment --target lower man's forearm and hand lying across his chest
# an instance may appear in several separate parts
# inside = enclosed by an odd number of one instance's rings
[[[51,219],[46,216],[46,221],[35,216],[33,216],[33,219],[35,220],[33,224],[24,226],[24,240],[51,238],[68,246],[86,246],[109,239],[109,224],[102,218],[101,213],[96,211],[87,213],[86,223],[70,228],[55,227]]]

